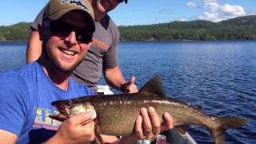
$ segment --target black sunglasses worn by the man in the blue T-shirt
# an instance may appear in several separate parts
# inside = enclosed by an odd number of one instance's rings
[[[91,33],[89,30],[78,28],[65,22],[48,21],[46,22],[46,26],[50,27],[50,31],[53,34],[59,34],[63,37],[67,37],[71,33],[71,31],[74,31],[75,38],[78,42],[89,43],[92,41],[93,38],[93,33]]]

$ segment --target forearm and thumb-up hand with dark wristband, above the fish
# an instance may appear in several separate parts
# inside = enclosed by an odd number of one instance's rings
[[[117,90],[122,90],[127,93],[138,92],[138,88],[135,85],[135,78],[131,77],[129,82],[126,82],[126,79],[122,76],[122,71],[118,66],[114,68],[104,69],[104,76],[106,82],[116,88]]]

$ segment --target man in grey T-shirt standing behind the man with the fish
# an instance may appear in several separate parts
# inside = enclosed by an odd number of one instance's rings
[[[97,91],[97,85],[102,73],[106,82],[123,92],[137,92],[137,86],[134,84],[135,78],[131,77],[128,82],[122,75],[118,66],[118,42],[119,31],[112,19],[107,14],[114,10],[118,4],[127,0],[91,0],[95,14],[96,31],[93,35],[93,42],[83,58],[81,64],[73,72],[74,79],[89,86],[94,92]],[[44,10],[42,10],[43,12]],[[41,54],[38,38],[38,22],[42,20],[42,12],[38,14],[34,24],[31,26],[29,44],[26,50],[26,61],[33,62]]]

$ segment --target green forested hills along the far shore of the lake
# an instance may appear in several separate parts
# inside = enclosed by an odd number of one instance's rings
[[[0,41],[29,38],[31,22],[0,26]],[[140,26],[118,26],[121,41],[238,40],[256,39],[256,15],[222,22],[195,20]]]

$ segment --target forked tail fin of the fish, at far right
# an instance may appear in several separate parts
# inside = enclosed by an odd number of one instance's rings
[[[210,133],[214,138],[216,144],[225,143],[225,131],[228,129],[238,128],[245,125],[248,121],[246,118],[240,118],[236,116],[225,116],[221,118],[216,118],[216,121],[220,122],[221,125],[218,128],[211,129]]]

